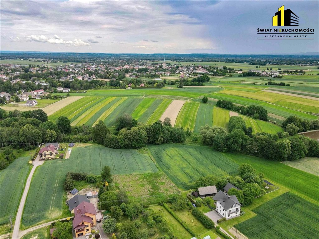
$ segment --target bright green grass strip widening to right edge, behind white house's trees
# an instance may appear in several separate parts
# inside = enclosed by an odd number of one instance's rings
[[[243,156],[234,153],[227,153],[227,156],[238,164],[249,163],[258,172],[262,172],[271,183],[279,185],[279,187],[283,185],[298,196],[317,205],[319,204],[318,176],[280,162],[254,156]]]

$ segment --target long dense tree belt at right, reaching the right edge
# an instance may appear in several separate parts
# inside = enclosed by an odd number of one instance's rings
[[[201,140],[221,152],[234,152],[262,157],[275,161],[297,160],[306,156],[319,156],[319,143],[303,136],[287,138],[287,133],[257,133],[246,128],[241,117],[232,116],[229,120],[229,133],[222,127],[201,128]]]

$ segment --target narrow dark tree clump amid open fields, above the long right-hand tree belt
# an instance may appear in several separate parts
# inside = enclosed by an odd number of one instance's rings
[[[216,102],[216,106],[254,117],[257,120],[265,120],[265,121],[268,120],[268,117],[267,117],[268,112],[262,106],[258,106],[258,105],[249,105],[248,107],[243,105],[236,106],[230,100],[218,100]]]

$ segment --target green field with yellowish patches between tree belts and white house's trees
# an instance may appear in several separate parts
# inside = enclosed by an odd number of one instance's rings
[[[181,190],[194,188],[199,177],[235,174],[238,164],[226,154],[205,146],[149,145],[151,155],[159,167]]]

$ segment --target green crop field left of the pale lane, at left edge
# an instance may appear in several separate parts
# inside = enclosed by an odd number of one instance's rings
[[[30,157],[19,157],[0,171],[0,224],[10,222],[16,214],[20,196],[30,170]]]

